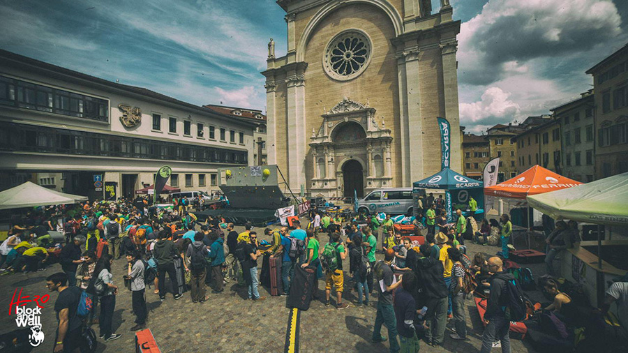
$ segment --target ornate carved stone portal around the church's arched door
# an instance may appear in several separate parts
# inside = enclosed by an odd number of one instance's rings
[[[314,171],[309,186],[312,195],[353,196],[351,186],[356,182],[361,183],[364,193],[392,186],[392,137],[390,130],[384,128],[383,117],[382,126],[377,125],[375,111],[368,103],[364,105],[344,98],[321,115],[320,128],[310,137]],[[348,177],[345,173],[352,174],[351,181],[345,180]],[[347,188],[351,190],[345,190]],[[361,195],[363,190],[357,193]]]

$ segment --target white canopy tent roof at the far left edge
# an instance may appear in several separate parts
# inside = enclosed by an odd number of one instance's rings
[[[60,193],[30,181],[0,192],[0,209],[75,204],[83,201],[87,201],[86,196]]]

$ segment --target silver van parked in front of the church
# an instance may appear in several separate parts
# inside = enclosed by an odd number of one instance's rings
[[[421,190],[420,195],[425,195]],[[406,214],[412,216],[414,202],[412,188],[382,188],[371,191],[358,200],[358,212]]]

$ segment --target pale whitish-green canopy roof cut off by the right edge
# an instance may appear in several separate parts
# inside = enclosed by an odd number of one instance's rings
[[[628,225],[628,173],[565,190],[528,196],[528,204],[555,219]]]

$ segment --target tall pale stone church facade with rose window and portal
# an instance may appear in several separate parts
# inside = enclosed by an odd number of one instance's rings
[[[456,35],[449,0],[278,0],[287,54],[269,43],[269,164],[292,190],[359,196],[440,171],[437,117],[461,171]]]

